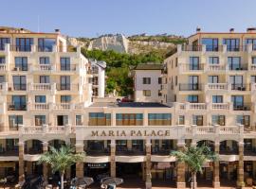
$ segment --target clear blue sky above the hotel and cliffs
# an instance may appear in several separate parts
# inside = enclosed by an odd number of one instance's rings
[[[73,37],[246,31],[256,26],[256,0],[1,0],[0,26]]]

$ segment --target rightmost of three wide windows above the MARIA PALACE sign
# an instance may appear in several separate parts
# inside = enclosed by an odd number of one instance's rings
[[[149,121],[149,126],[171,126],[172,114],[171,113],[149,113],[148,121]]]

